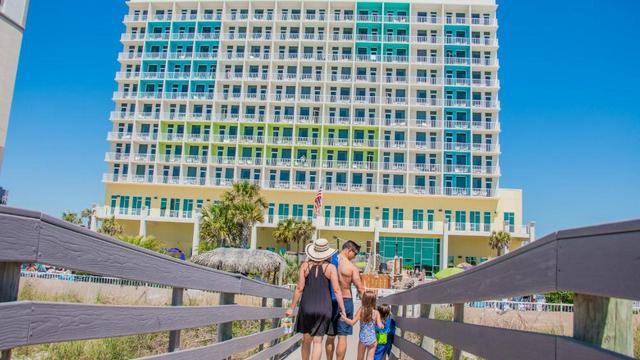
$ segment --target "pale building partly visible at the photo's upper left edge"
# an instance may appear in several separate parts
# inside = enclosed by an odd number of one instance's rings
[[[27,7],[28,0],[0,0],[0,170]]]

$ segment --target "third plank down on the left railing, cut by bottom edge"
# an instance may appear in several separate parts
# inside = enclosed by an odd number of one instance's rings
[[[208,346],[176,351],[155,356],[141,358],[142,360],[191,360],[191,359],[225,359],[233,354],[258,345],[265,344],[269,341],[277,339],[284,335],[284,328],[275,328],[252,334],[248,336],[238,337],[221,343],[215,343]]]

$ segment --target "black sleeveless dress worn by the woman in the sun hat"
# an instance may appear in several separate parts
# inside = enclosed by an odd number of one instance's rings
[[[329,286],[330,282],[324,275],[322,265],[313,265],[304,281],[304,291],[296,320],[296,332],[311,336],[327,334],[331,328],[333,313]]]

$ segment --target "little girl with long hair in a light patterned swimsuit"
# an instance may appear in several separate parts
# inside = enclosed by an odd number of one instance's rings
[[[365,291],[362,296],[362,307],[358,309],[352,319],[342,314],[342,320],[353,326],[360,321],[360,337],[358,342],[358,360],[373,360],[376,351],[376,327],[383,328],[384,324],[380,318],[380,313],[376,310],[376,294],[372,291]]]

